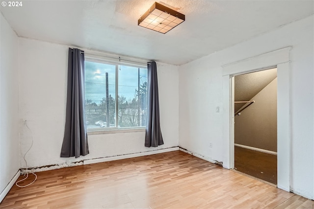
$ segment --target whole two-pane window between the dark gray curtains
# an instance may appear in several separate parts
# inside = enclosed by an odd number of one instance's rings
[[[87,130],[146,126],[147,67],[85,61]]]

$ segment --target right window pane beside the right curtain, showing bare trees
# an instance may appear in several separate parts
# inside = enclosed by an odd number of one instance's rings
[[[118,71],[118,127],[146,126],[147,69],[119,66]]]

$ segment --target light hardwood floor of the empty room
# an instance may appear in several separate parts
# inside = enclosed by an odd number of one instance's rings
[[[181,151],[37,174],[33,185],[13,186],[0,209],[314,208],[312,200]]]

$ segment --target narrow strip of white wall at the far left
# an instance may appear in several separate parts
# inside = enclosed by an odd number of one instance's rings
[[[0,192],[20,169],[18,37],[0,15]]]

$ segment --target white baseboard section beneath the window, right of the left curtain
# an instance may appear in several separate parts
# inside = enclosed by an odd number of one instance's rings
[[[85,160],[83,161],[84,165],[92,164],[92,163],[103,163],[108,161],[117,161],[127,158],[135,158],[135,157],[141,157],[146,155],[154,155],[164,152],[172,152],[179,150],[179,147],[171,147],[171,148],[165,148],[165,149],[158,149],[153,151],[147,151],[147,152],[140,152],[140,153],[133,153],[133,154],[127,154],[127,155],[119,155],[119,156],[113,156],[113,157],[106,157],[106,158],[97,158],[97,159],[91,159],[91,160]]]

